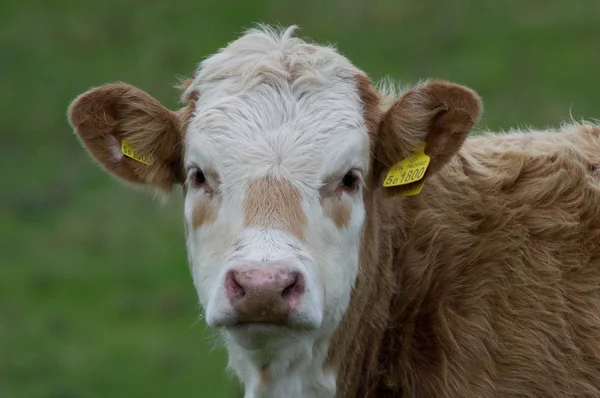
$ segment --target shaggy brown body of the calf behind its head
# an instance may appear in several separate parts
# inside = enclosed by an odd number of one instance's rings
[[[599,166],[574,125],[471,138],[415,197],[374,187],[338,396],[600,396]]]

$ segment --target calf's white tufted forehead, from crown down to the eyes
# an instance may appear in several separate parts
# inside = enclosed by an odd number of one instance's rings
[[[220,174],[277,168],[308,179],[368,167],[362,72],[291,34],[253,30],[201,63],[184,93],[195,98],[188,162]]]

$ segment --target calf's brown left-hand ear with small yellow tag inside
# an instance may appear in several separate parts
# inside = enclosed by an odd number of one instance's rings
[[[68,118],[88,153],[119,179],[163,192],[183,181],[181,121],[144,91],[123,83],[91,89]]]

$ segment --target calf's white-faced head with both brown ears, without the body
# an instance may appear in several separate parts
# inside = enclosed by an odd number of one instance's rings
[[[365,229],[366,209],[401,191],[381,187],[384,173],[425,143],[428,178],[480,113],[473,91],[445,82],[385,96],[334,49],[292,32],[251,30],[206,59],[179,111],[126,84],[69,108],[109,173],[183,187],[194,285],[247,388],[267,382],[265,366],[316,372],[313,384],[333,388],[320,369],[358,274],[369,272],[359,259],[377,231]]]

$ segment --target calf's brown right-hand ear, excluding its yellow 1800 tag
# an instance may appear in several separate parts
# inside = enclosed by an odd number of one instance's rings
[[[418,182],[384,191],[401,193],[436,173],[458,152],[479,119],[481,108],[477,93],[457,84],[432,81],[406,91],[381,119],[378,160],[387,171],[424,144],[430,162]]]

